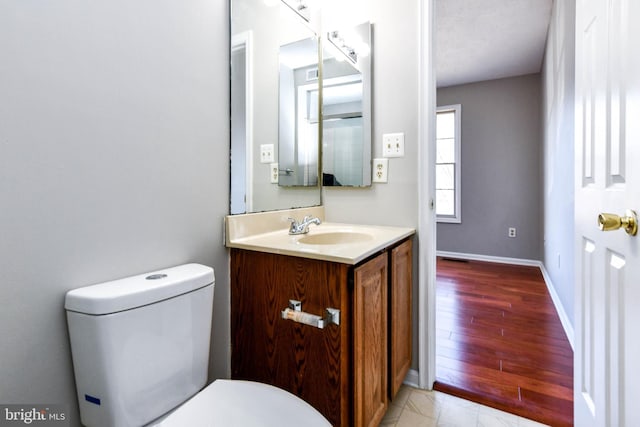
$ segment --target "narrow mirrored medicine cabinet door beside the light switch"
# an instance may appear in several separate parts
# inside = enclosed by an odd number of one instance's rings
[[[322,185],[371,185],[371,24],[325,34]]]

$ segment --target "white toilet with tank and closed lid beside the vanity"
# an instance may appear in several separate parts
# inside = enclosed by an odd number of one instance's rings
[[[207,366],[213,269],[186,264],[69,291],[81,421],[120,426],[330,426],[284,390],[217,380]]]

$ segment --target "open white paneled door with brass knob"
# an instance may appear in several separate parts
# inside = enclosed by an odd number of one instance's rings
[[[640,1],[576,2],[575,425],[640,426]],[[560,218],[558,220],[561,220]]]

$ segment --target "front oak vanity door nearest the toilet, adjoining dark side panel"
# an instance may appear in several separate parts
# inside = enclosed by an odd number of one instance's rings
[[[387,254],[354,270],[354,425],[377,426],[387,406]]]

